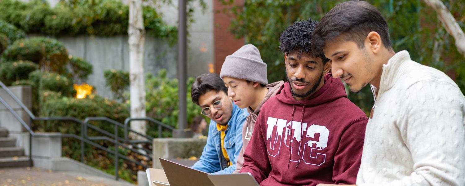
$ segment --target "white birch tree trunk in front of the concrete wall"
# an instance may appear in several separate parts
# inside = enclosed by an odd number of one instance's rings
[[[142,0],[129,0],[129,79],[131,117],[146,117],[144,80],[145,28],[142,17]],[[132,121],[131,129],[146,134],[145,121]]]

